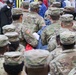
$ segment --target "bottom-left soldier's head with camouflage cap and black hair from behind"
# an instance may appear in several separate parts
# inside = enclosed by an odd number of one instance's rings
[[[21,52],[4,53],[4,70],[7,75],[22,75],[23,72],[23,55]]]

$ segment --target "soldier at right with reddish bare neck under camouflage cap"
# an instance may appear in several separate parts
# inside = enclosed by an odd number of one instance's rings
[[[61,32],[64,32],[64,31],[68,31],[68,30],[74,31],[74,30],[73,30],[73,15],[71,15],[71,14],[64,14],[64,15],[62,15],[62,16],[60,17],[60,20],[61,20],[61,28],[59,29],[58,32],[56,32],[56,36],[60,35],[60,33],[61,33]],[[56,37],[56,36],[55,36],[55,37]],[[56,39],[56,38],[55,38],[55,39]],[[54,40],[55,40],[55,39],[54,39]],[[50,41],[48,42],[48,49],[49,49],[50,51],[52,50],[51,41],[52,41],[52,40],[50,40]],[[56,45],[56,47],[58,47],[57,44],[56,44],[56,41],[54,41],[54,43],[53,43],[52,45],[53,45],[53,46]],[[59,48],[59,47],[58,47],[58,48]]]

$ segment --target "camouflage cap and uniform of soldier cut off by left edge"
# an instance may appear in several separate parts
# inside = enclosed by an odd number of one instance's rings
[[[10,42],[8,41],[8,38],[5,35],[0,35],[0,47],[4,47],[8,45]],[[4,71],[3,67],[4,63],[4,55],[0,54],[0,75],[7,75]]]

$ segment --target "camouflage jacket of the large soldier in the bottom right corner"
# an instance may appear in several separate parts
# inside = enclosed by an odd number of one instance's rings
[[[76,56],[75,49],[63,51],[58,57],[50,62],[51,75],[68,75],[73,68],[73,57]]]

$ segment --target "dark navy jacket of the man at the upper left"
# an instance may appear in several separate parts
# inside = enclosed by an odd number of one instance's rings
[[[1,30],[4,25],[11,24],[11,23],[12,23],[11,8],[8,8],[7,5],[5,5],[0,10],[0,28],[1,28]]]

